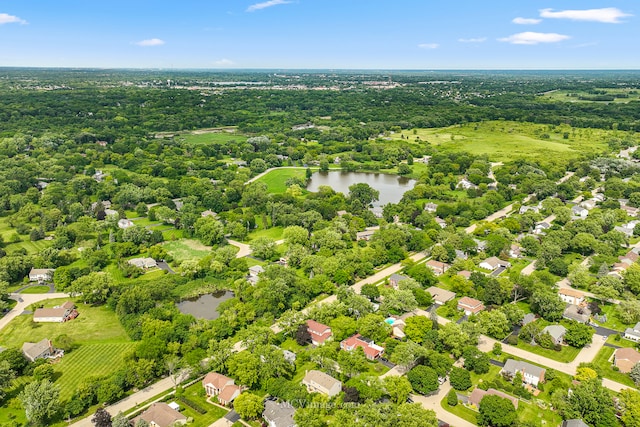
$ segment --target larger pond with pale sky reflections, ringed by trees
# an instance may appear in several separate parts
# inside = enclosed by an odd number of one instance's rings
[[[373,206],[384,206],[387,203],[398,203],[405,191],[416,185],[415,179],[404,178],[384,173],[365,172],[315,172],[307,185],[307,190],[318,191],[321,185],[328,185],[335,191],[349,194],[349,186],[364,182],[380,192],[380,200]]]

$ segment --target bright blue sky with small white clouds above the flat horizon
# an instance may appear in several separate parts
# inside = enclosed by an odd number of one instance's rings
[[[640,69],[637,0],[1,0],[0,66]]]

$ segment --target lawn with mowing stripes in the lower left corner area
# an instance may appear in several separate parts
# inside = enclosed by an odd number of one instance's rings
[[[126,356],[135,346],[133,342],[86,344],[64,355],[54,364],[59,374],[55,382],[60,385],[60,398],[70,398],[87,378],[107,376],[123,367]]]

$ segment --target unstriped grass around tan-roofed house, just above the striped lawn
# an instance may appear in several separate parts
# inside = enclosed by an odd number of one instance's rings
[[[65,301],[67,299],[49,300],[45,306],[53,307]],[[34,323],[32,315],[18,316],[0,331],[0,346],[20,348],[27,341],[38,342],[43,338],[55,343],[55,339],[63,334],[80,345],[131,341],[116,314],[107,307],[80,304],[78,312],[80,316],[65,323]]]

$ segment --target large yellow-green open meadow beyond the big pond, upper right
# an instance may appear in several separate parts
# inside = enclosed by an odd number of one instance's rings
[[[564,139],[564,133],[568,138]],[[574,129],[570,126],[547,126],[510,121],[469,123],[437,129],[416,129],[403,134],[409,140],[438,146],[444,151],[486,154],[492,161],[568,160],[583,153],[604,152],[615,131]],[[618,132],[618,135],[621,133]]]

